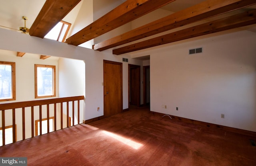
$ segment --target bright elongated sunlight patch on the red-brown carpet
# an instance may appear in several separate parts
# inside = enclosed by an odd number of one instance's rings
[[[119,135],[116,135],[116,134],[108,132],[108,131],[102,131],[102,133],[104,133],[104,134],[106,134],[106,135],[108,135],[108,136],[110,136],[110,137],[112,137],[112,138],[114,138],[114,139],[116,139],[116,140],[118,140],[118,141],[128,145],[128,146],[131,146],[134,149],[139,149],[141,146],[143,146],[140,143],[136,143],[136,142],[134,142],[134,141],[132,141],[130,139],[126,139],[124,137],[121,137]]]

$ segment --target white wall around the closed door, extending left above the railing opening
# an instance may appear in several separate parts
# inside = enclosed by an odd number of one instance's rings
[[[0,29],[0,36],[2,36],[0,38],[0,49],[83,60],[86,71],[84,120],[102,116],[104,113],[103,60],[122,62],[122,57],[126,57],[130,64],[142,66],[140,60],[131,59],[128,55],[112,55],[111,51],[94,51],[6,29]],[[24,42],[26,45],[19,44]],[[97,107],[100,107],[100,111],[97,111]],[[126,108],[128,108],[128,63],[123,63],[123,109]]]

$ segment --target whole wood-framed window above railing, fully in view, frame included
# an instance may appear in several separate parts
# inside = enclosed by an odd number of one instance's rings
[[[35,64],[35,98],[56,96],[55,66]]]

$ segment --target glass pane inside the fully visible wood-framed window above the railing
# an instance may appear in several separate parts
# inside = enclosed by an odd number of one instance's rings
[[[53,95],[53,69],[37,67],[37,94],[38,96]]]

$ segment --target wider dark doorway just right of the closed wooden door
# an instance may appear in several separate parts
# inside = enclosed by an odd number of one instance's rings
[[[140,66],[128,64],[129,107],[140,106]]]

